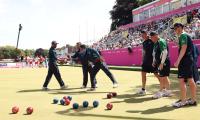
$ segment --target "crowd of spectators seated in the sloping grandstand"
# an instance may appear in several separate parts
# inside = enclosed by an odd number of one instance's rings
[[[173,30],[170,29],[173,25],[173,20],[185,15],[187,16],[185,31],[190,34],[193,39],[200,39],[200,9],[195,9],[133,28],[118,28],[117,30],[104,36],[98,42],[94,43],[92,47],[97,50],[113,50],[139,46],[142,43],[140,37],[141,30],[157,31],[160,33],[160,36],[168,42],[173,41],[175,39],[175,35]]]

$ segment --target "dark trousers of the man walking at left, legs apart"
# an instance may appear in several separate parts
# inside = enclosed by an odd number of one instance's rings
[[[65,85],[63,80],[62,80],[62,78],[61,78],[60,71],[59,71],[58,66],[56,65],[56,63],[49,63],[48,74],[47,74],[46,80],[45,80],[45,82],[43,84],[43,87],[47,87],[48,86],[53,74],[56,77],[56,79],[57,79],[57,81],[58,81],[60,86],[64,86]]]

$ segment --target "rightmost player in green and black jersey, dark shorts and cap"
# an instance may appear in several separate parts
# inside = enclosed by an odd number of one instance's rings
[[[179,56],[174,66],[178,68],[178,78],[180,82],[181,97],[172,105],[182,107],[185,105],[197,105],[196,102],[196,84],[193,79],[193,43],[191,37],[183,31],[184,25],[174,24],[174,31],[178,35]],[[186,98],[186,82],[189,82],[191,97]]]

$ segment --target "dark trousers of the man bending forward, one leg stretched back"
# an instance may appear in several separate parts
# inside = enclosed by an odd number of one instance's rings
[[[94,67],[92,68],[92,71],[91,71],[92,73],[90,75],[92,88],[95,88],[95,77],[96,77],[96,75],[97,75],[97,73],[99,72],[100,69],[102,69],[104,71],[104,73],[110,78],[112,83],[117,83],[117,81],[115,80],[114,76],[109,71],[108,66],[106,65],[106,63],[105,62],[97,62],[97,63],[94,64]]]

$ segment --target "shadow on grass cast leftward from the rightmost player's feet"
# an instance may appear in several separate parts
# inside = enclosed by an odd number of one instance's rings
[[[138,110],[128,110],[126,112],[128,113],[141,113],[141,114],[155,114],[155,113],[162,113],[162,112],[169,112],[175,110],[172,106],[163,106],[159,108],[152,108],[144,111],[138,111]]]

